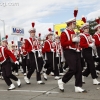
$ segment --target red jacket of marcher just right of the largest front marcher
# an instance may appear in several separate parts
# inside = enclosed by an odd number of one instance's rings
[[[80,33],[80,47],[88,48],[92,43],[92,36],[89,33]]]

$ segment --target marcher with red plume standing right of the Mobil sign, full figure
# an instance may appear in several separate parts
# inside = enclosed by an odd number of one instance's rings
[[[24,77],[24,80],[27,84],[30,84],[30,78],[33,74],[33,72],[36,69],[36,78],[37,78],[37,84],[45,84],[41,80],[41,60],[39,59],[40,52],[42,51],[41,48],[39,48],[39,41],[36,38],[36,29],[34,28],[35,23],[32,23],[32,28],[29,30],[30,37],[28,39],[25,39],[25,51],[29,54],[29,60],[30,60],[30,70],[28,71],[27,75]]]

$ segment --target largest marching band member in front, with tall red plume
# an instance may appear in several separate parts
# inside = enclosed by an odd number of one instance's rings
[[[77,16],[78,10],[74,10],[74,17]],[[67,28],[61,33],[60,41],[64,51],[65,60],[68,63],[69,70],[58,80],[59,89],[64,92],[64,83],[67,83],[73,75],[75,76],[75,92],[86,93],[82,89],[82,69],[79,54],[77,53],[77,43],[79,38],[75,36],[74,29],[76,27],[76,18],[72,18],[67,22]]]

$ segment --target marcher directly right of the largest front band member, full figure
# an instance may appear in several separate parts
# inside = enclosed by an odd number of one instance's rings
[[[81,27],[83,33],[80,33],[80,47],[82,48],[83,58],[87,63],[87,68],[82,73],[82,81],[85,83],[84,77],[88,77],[88,75],[91,73],[93,84],[99,85],[100,82],[97,80],[94,60],[92,57],[92,49],[95,46],[95,40],[89,34],[89,23],[86,23],[85,17],[82,17],[82,20],[84,21],[84,24]]]

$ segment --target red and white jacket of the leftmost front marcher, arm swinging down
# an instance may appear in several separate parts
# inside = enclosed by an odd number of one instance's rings
[[[0,46],[0,63],[2,64],[3,62],[6,61],[7,58],[11,58],[14,62],[17,61],[13,53],[8,50],[6,47]]]

